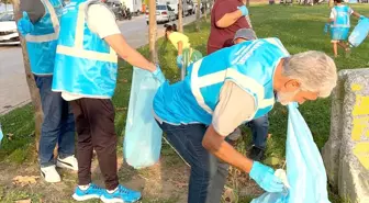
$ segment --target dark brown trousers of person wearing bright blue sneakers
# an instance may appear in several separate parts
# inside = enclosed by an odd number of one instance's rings
[[[105,188],[114,190],[119,184],[116,173],[116,134],[114,106],[109,99],[82,98],[70,102],[78,133],[78,184],[91,182],[91,160],[97,151]]]

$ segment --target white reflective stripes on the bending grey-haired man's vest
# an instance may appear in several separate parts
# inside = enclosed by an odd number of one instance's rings
[[[271,66],[277,66],[283,57],[289,56],[288,50],[284,48],[284,46],[280,43],[279,40],[266,38],[250,42],[249,45],[241,47],[237,52],[232,54],[234,59],[231,61],[231,67],[225,68],[223,70],[199,76],[200,67],[203,63],[203,59],[200,59],[199,61],[192,65],[191,82],[190,82],[191,92],[197,103],[206,113],[212,115],[214,110],[213,106],[210,106],[206,103],[205,101],[206,99],[204,99],[205,95],[202,92],[202,88],[211,87],[216,83],[222,83],[225,82],[226,80],[232,80],[237,86],[243,88],[246,92],[254,95],[255,104],[257,105],[257,111],[250,117],[254,117],[257,114],[258,110],[262,110],[273,105],[275,98],[265,97],[266,89],[262,86],[262,83],[257,81],[257,78],[247,76],[238,71],[236,68],[237,66],[243,67],[245,65],[245,61],[248,61],[248,59],[250,59],[251,56],[254,57],[255,52],[258,52],[260,46],[266,46],[266,43],[276,46],[275,48],[271,49],[271,50],[276,49],[276,57],[275,59],[272,59],[273,65]]]

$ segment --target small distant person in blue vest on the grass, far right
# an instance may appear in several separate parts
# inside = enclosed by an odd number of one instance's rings
[[[338,45],[345,49],[346,54],[350,52],[348,44],[345,42],[348,38],[350,29],[350,15],[364,18],[349,5],[343,4],[343,2],[344,0],[334,0],[335,7],[332,8],[328,23],[324,27],[324,32],[328,32],[328,27],[331,26],[331,42],[335,57],[338,56]]]

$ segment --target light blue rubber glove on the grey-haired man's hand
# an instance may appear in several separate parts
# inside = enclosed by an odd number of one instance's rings
[[[249,176],[267,192],[283,191],[284,185],[282,181],[275,176],[275,170],[258,161],[254,161]]]

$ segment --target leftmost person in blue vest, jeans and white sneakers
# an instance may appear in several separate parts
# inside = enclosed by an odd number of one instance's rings
[[[40,89],[44,122],[38,147],[41,173],[47,182],[59,182],[56,166],[78,170],[75,158],[75,121],[68,102],[52,91],[56,44],[59,35],[60,0],[22,0],[23,18],[18,27],[25,37],[31,71]]]

